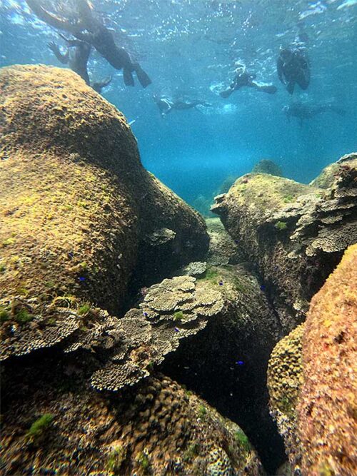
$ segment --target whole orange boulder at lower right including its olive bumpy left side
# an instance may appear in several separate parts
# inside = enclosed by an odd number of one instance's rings
[[[271,414],[296,475],[353,475],[357,245],[311,300],[306,323],[271,353]]]

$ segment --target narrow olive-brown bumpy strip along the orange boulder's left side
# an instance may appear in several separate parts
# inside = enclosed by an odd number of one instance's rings
[[[301,445],[297,434],[296,405],[303,379],[302,338],[304,325],[298,325],[281,339],[268,364],[268,391],[271,415],[283,437],[291,467],[300,474]]]

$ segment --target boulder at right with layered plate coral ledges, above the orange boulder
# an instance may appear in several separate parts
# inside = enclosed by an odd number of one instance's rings
[[[238,179],[212,207],[258,265],[285,332],[357,240],[357,171],[343,165],[326,191],[266,174]]]

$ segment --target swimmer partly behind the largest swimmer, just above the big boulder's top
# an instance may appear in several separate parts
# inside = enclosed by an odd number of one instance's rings
[[[89,55],[91,54],[91,45],[84,41],[68,40],[64,36],[60,36],[68,45],[66,53],[62,54],[59,50],[59,46],[57,46],[54,41],[49,43],[49,49],[53,51],[56,58],[61,61],[62,64],[68,64],[71,70],[79,74],[94,91],[101,93],[101,90],[111,82],[111,77],[95,83],[89,81],[87,63]]]

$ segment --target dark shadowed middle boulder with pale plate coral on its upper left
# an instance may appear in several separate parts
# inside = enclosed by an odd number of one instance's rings
[[[176,339],[185,336],[161,368],[238,422],[263,464],[275,470],[282,445],[268,415],[266,367],[280,330],[276,315],[256,276],[243,265],[208,267],[191,284],[194,290],[176,291],[175,299],[168,288],[156,303],[144,301],[155,326],[171,322]]]

